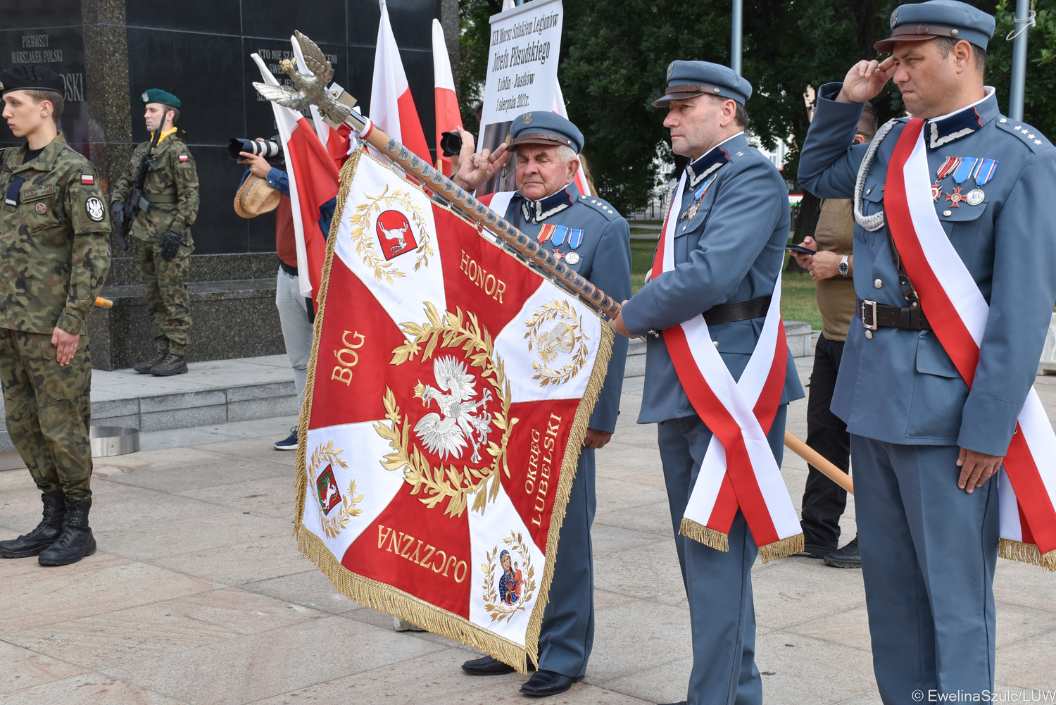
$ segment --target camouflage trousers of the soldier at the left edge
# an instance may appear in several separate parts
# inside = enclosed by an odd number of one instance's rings
[[[43,494],[92,496],[92,358],[88,336],[65,367],[51,333],[0,329],[0,385],[7,432]]]

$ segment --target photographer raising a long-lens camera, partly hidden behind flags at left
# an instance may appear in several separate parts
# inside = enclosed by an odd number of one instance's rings
[[[294,390],[300,401],[308,376],[315,310],[312,299],[301,296],[293,204],[289,201],[289,177],[268,162],[267,157],[277,156],[281,151],[275,140],[232,138],[228,150],[232,156],[238,155],[239,164],[247,166],[245,173],[242,174],[239,192],[234,197],[234,211],[243,218],[256,218],[275,210],[275,251],[279,256],[275,305],[279,309],[282,337],[286,342],[289,365],[294,368]],[[275,196],[279,197],[277,201]],[[275,205],[276,203],[278,205]],[[336,199],[331,199],[320,209],[322,217],[319,219],[319,228],[323,237],[329,234],[331,219],[334,217],[336,205]],[[307,226],[307,223],[305,225]],[[296,426],[289,429],[288,437],[275,444],[275,449],[297,450]]]

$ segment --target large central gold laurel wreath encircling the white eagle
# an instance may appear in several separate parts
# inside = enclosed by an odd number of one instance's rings
[[[488,453],[494,459],[490,466],[477,468],[463,465],[463,469],[458,470],[454,464],[445,468],[440,463],[434,468],[429,464],[425,453],[410,443],[411,425],[408,416],[404,414],[402,420],[400,419],[396,397],[392,389],[385,387],[383,400],[385,419],[391,425],[378,422],[374,424],[374,430],[389,441],[394,452],[384,457],[381,466],[386,470],[406,468],[403,480],[414,487],[411,494],[423,493],[425,497],[418,501],[431,509],[447,500],[444,513],[450,517],[460,517],[466,511],[467,498],[476,493],[473,511],[484,514],[487,502],[489,500],[493,502],[498,497],[499,467],[506,472],[506,477],[510,477],[506,459],[507,443],[513,425],[518,421],[509,418],[512,398],[510,383],[506,378],[502,358],[495,356],[494,361],[492,360],[491,334],[479,324],[475,314],[467,314],[457,309],[455,313],[447,312],[441,316],[436,307],[427,301],[426,316],[429,320],[420,326],[414,322],[400,323],[407,339],[403,345],[393,350],[390,365],[402,365],[414,359],[419,352],[422,353],[421,361],[425,363],[432,357],[437,347],[460,347],[468,356],[470,366],[482,370],[479,376],[494,387],[495,393],[502,401],[502,411],[496,411],[492,418],[492,423],[503,431],[502,443],[488,442]],[[421,350],[422,345],[425,352]],[[477,493],[478,489],[486,488],[489,480],[490,491]]]

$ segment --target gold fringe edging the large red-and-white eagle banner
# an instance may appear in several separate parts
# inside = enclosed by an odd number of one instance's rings
[[[308,421],[312,418],[312,398],[315,391],[316,361],[319,358],[319,336],[322,329],[322,321],[326,310],[326,285],[329,282],[331,264],[334,261],[334,245],[337,241],[337,234],[344,214],[344,205],[348,198],[348,190],[352,186],[356,168],[365,152],[362,148],[352,153],[344,166],[341,168],[341,187],[337,196],[337,206],[334,210],[334,219],[331,222],[329,237],[326,239],[326,259],[323,263],[321,282],[318,284],[318,307],[316,312],[315,331],[312,342],[312,356],[308,359],[308,378],[304,385],[304,397],[301,404],[301,415],[297,426],[297,438],[302,440],[297,449],[297,477],[295,479],[295,493],[297,497],[296,518],[294,522],[294,536],[297,538],[297,548],[308,559],[315,563],[323,575],[325,575],[334,587],[341,594],[356,600],[360,605],[370,607],[381,612],[395,615],[421,627],[434,634],[441,634],[456,642],[470,646],[479,651],[491,654],[515,668],[520,673],[527,673],[527,657],[539,663],[539,634],[543,625],[543,613],[549,601],[550,583],[553,580],[553,565],[558,557],[558,539],[561,535],[561,525],[565,519],[565,509],[568,504],[568,497],[572,490],[572,480],[576,477],[576,468],[579,464],[580,452],[583,449],[583,439],[586,437],[587,423],[593,412],[598,395],[601,393],[605,382],[605,373],[608,370],[608,361],[612,355],[612,339],[615,333],[612,329],[602,322],[601,341],[595,357],[593,369],[586,390],[580,401],[576,411],[576,419],[569,432],[568,444],[565,447],[565,457],[561,464],[561,477],[558,481],[557,497],[554,499],[553,512],[550,517],[550,528],[547,534],[546,565],[543,571],[542,583],[535,606],[532,608],[528,619],[528,627],[525,633],[525,646],[499,636],[494,632],[475,625],[465,617],[448,612],[434,605],[415,597],[402,590],[357,575],[346,569],[334,557],[323,541],[304,526],[304,505],[308,491],[307,475],[307,443]],[[391,166],[375,160],[381,166],[396,173],[408,185],[420,188],[407,180],[407,178],[393,169]],[[478,224],[470,221],[461,212],[445,207],[442,204],[433,202],[437,207],[444,208],[454,214],[466,223],[478,229]],[[496,247],[502,247],[501,243],[494,242],[486,235],[482,234],[486,240]],[[530,268],[527,262],[522,262]],[[534,270],[533,270],[534,271]],[[536,271],[536,274],[541,274]],[[549,278],[549,277],[547,277]],[[562,290],[564,291],[564,290]],[[569,296],[581,298],[571,292],[566,292]]]

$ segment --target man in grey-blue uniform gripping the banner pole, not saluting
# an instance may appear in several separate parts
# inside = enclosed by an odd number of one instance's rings
[[[788,189],[774,165],[744,137],[752,85],[706,61],[667,69],[664,126],[672,148],[689,156],[677,218],[675,270],[647,282],[614,321],[623,335],[643,335],[703,315],[712,339],[739,379],[762,331],[789,235]],[[714,181],[709,184],[709,178]],[[648,335],[645,390],[638,423],[658,423],[667,501],[693,627],[693,671],[686,702],[762,702],[755,667],[751,568],[758,554],[743,515],[730,530],[729,552],[679,534],[685,505],[712,431],[690,403],[662,334]],[[780,465],[786,405],[804,395],[791,353],[777,415],[768,434]]]

